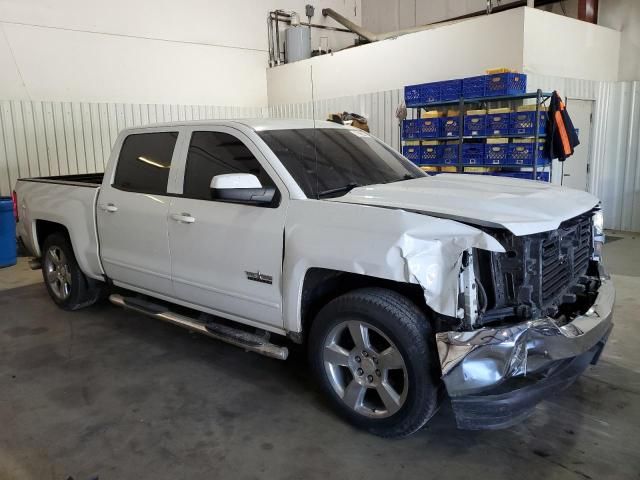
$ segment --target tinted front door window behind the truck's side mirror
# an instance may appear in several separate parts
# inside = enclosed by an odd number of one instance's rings
[[[251,150],[237,137],[222,132],[193,132],[184,174],[185,197],[211,200],[211,179],[228,173],[250,173],[263,187],[275,184]]]

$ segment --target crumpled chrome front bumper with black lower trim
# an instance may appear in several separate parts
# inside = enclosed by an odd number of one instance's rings
[[[615,290],[602,278],[589,310],[558,325],[516,325],[436,334],[442,379],[458,428],[498,429],[520,422],[548,395],[598,361],[613,328]]]

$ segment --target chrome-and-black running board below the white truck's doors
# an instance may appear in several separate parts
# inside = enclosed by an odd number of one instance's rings
[[[265,337],[219,323],[210,322],[205,324],[185,315],[172,312],[167,307],[157,303],[135,297],[123,297],[117,294],[110,295],[109,301],[119,307],[133,310],[168,323],[173,323],[174,325],[193,332],[202,333],[208,337],[244,348],[251,352],[259,353],[266,357],[286,360],[289,356],[287,347],[280,347],[271,343]]]

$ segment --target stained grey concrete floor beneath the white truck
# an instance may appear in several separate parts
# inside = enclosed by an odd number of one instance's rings
[[[245,353],[108,304],[63,312],[0,270],[0,479],[640,479],[640,239],[605,247],[618,290],[600,363],[503,431],[449,407],[404,440],[340,421],[304,356]]]

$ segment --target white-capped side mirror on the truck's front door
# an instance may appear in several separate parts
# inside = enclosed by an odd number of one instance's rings
[[[211,179],[211,198],[222,202],[270,205],[275,187],[263,187],[258,177],[250,173],[227,173]]]

